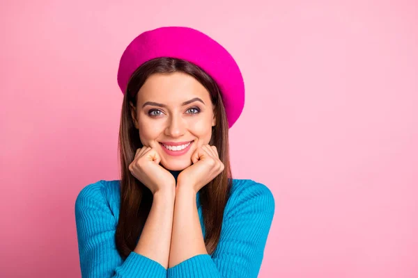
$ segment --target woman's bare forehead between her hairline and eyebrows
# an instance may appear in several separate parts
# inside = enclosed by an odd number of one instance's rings
[[[158,101],[162,103],[183,103],[200,97],[206,104],[210,101],[208,90],[193,76],[184,72],[152,74],[138,92],[138,102]]]

